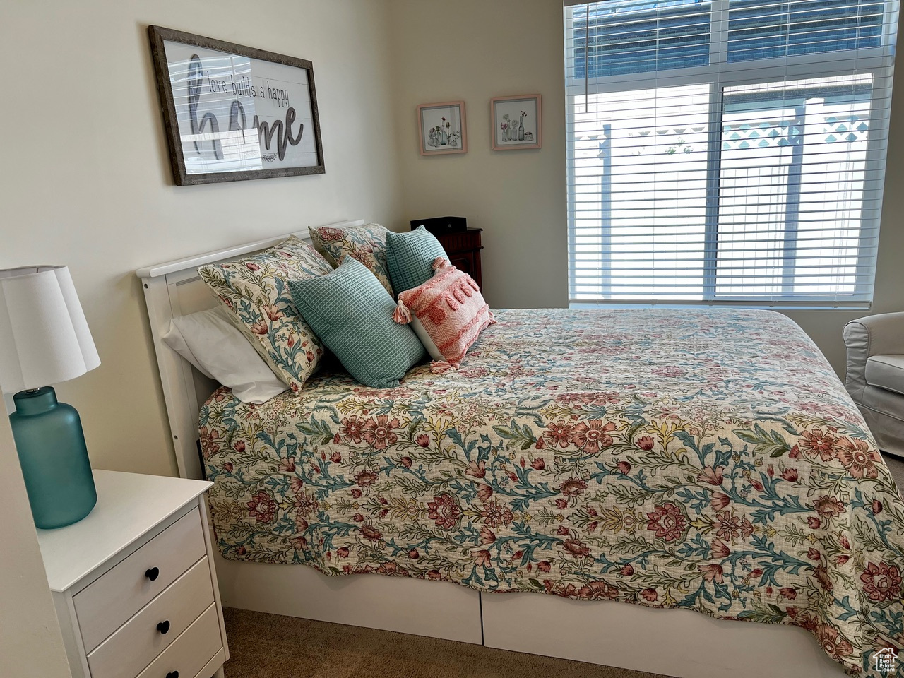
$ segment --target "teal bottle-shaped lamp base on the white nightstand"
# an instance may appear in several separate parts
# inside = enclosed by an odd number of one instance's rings
[[[78,523],[97,504],[79,413],[45,386],[13,396],[10,415],[36,527]]]

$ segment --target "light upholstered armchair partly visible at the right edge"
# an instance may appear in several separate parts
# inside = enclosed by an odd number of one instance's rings
[[[844,325],[844,385],[883,452],[904,457],[904,313]]]

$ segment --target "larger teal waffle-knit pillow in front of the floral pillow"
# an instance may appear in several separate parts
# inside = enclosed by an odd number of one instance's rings
[[[288,287],[305,322],[365,386],[398,386],[426,357],[410,327],[393,322],[395,302],[361,262],[346,257],[333,272]]]

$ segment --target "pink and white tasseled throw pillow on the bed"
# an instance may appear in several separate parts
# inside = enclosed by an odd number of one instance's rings
[[[405,325],[413,313],[435,346],[436,353],[431,350],[434,346],[421,339],[430,355],[458,367],[481,331],[496,321],[473,278],[441,257],[434,259],[433,270],[433,278],[399,295],[392,317]]]

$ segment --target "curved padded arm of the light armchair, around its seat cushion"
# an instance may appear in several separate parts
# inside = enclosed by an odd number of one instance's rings
[[[854,402],[866,388],[866,361],[871,355],[904,353],[904,313],[867,315],[844,325],[847,373],[844,385]]]

